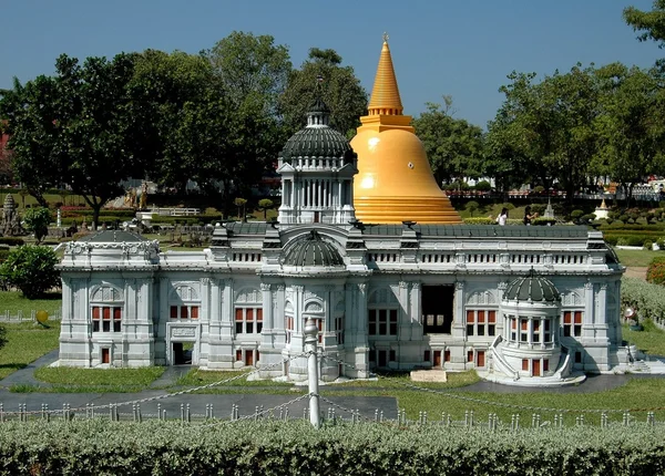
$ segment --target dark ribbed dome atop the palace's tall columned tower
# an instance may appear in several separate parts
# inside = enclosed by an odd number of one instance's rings
[[[291,158],[341,158],[354,154],[347,138],[328,126],[305,127],[295,133],[282,149],[279,156],[288,162]]]

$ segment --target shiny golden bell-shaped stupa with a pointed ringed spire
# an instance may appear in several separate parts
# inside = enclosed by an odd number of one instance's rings
[[[461,224],[437,185],[424,147],[410,126],[411,116],[402,115],[386,35],[368,110],[351,141],[358,154],[356,217],[378,224]]]

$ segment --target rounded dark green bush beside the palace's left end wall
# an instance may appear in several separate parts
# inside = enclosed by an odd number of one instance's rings
[[[10,251],[0,266],[0,277],[28,299],[35,299],[60,283],[58,256],[49,247],[24,245]]]

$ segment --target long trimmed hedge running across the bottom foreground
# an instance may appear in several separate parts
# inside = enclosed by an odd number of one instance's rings
[[[572,416],[570,416],[572,417]],[[665,428],[488,430],[258,421],[6,422],[0,472],[68,475],[656,475]]]

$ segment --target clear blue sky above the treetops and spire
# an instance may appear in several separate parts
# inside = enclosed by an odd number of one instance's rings
[[[484,127],[511,71],[551,74],[576,62],[649,66],[665,50],[640,43],[622,19],[652,0],[6,0],[0,9],[0,87],[53,72],[60,53],[112,56],[147,48],[196,53],[234,30],[270,34],[298,66],[331,48],[371,91],[390,50],[405,114],[453,97],[456,116]]]

